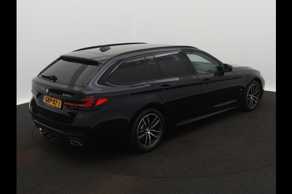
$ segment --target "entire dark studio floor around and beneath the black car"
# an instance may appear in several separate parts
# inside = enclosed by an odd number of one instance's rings
[[[169,130],[155,150],[76,147],[39,138],[28,103],[17,105],[18,194],[276,192],[276,93],[255,111],[221,113]]]

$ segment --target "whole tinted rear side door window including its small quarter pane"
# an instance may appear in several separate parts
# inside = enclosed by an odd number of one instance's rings
[[[154,59],[147,59],[149,71],[147,79],[172,78],[189,75],[189,71],[179,52],[154,55]]]

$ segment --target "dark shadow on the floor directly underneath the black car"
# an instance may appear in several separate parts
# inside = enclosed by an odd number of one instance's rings
[[[171,141],[173,141],[173,139],[187,137],[189,136],[190,133],[193,133],[196,130],[200,130],[201,128],[207,125],[210,124],[216,125],[216,123],[221,122],[222,119],[226,119],[226,121],[228,121],[228,118],[231,115],[240,113],[242,114],[242,111],[240,109],[234,109],[180,127],[172,127],[170,129],[167,129],[167,131],[164,134],[164,138],[162,139],[160,145],[156,149],[159,149],[161,145],[168,143],[171,144]],[[41,139],[39,138],[39,132],[35,127],[32,127],[32,136],[36,145],[44,152],[51,156],[66,161],[68,161],[68,159],[94,161],[95,159],[100,158],[104,159],[108,157],[119,158],[119,156],[125,157],[145,154],[131,150],[126,145],[126,143],[110,138],[102,139],[102,141],[97,142],[93,146],[73,146],[57,138],[48,140]],[[169,149],[171,149],[171,147]]]

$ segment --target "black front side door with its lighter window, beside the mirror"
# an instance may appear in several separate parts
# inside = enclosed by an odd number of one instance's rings
[[[201,82],[202,113],[217,111],[235,103],[239,90],[232,71],[223,71],[223,65],[201,52],[185,51],[185,56]]]

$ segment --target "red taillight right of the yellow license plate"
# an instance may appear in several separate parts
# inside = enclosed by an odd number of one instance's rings
[[[94,97],[85,97],[81,98],[79,102],[64,102],[64,104],[69,108],[91,108],[92,106],[98,106],[106,101],[108,98],[94,98]],[[95,103],[96,102],[96,103]]]

